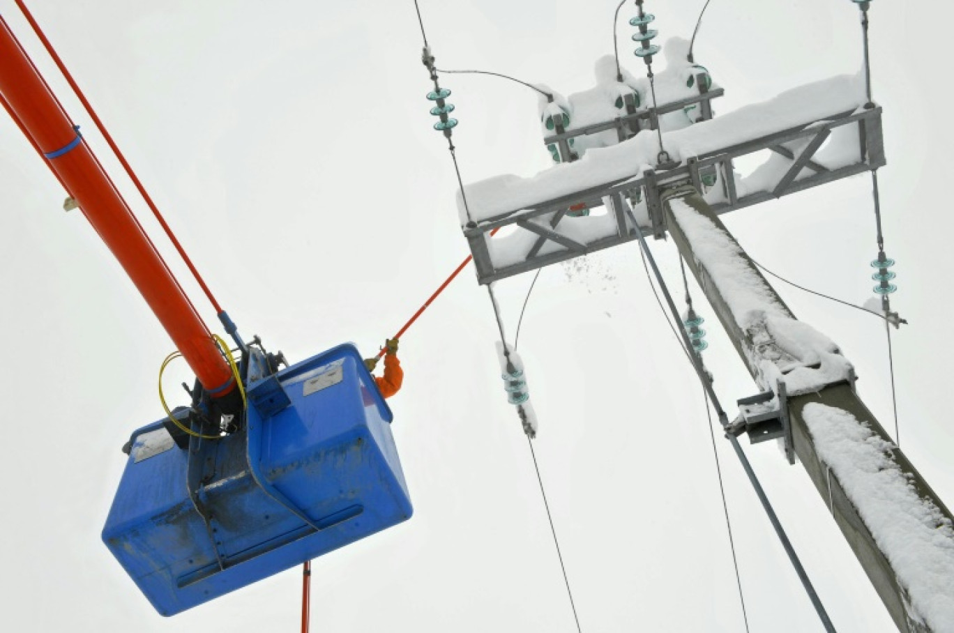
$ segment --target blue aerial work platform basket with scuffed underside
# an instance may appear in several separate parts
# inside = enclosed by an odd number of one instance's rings
[[[277,374],[250,354],[246,371],[239,433],[186,444],[160,420],[128,446],[103,541],[164,616],[411,516],[390,409],[353,345]]]

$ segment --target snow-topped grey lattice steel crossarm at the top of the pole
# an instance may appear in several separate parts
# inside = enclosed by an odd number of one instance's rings
[[[640,225],[665,233],[659,194],[692,183],[722,214],[884,165],[881,109],[865,109],[858,76],[842,75],[784,92],[711,121],[663,133],[679,167],[654,172],[659,141],[644,131],[612,147],[529,178],[501,175],[465,188],[476,227],[462,225],[481,283],[535,270],[632,240],[625,214],[607,201],[628,199]],[[771,156],[747,177],[733,160]],[[617,205],[619,206],[619,205]],[[588,216],[574,217],[584,209]],[[606,209],[604,212],[603,209]],[[498,227],[515,230],[490,237]]]

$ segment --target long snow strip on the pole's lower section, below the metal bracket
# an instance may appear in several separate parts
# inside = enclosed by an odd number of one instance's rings
[[[893,459],[896,448],[846,411],[805,405],[819,457],[834,471],[907,588],[911,607],[935,633],[954,633],[954,529],[919,497]]]

